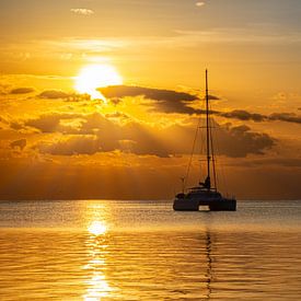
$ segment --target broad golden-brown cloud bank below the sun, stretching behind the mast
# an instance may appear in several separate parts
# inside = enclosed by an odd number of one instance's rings
[[[117,123],[116,118],[127,118],[126,123]],[[194,118],[195,119],[195,118]],[[72,124],[73,123],[73,124]],[[67,138],[39,146],[42,152],[54,155],[72,155],[78,153],[93,154],[115,150],[132,152],[138,155],[157,155],[169,158],[175,154],[190,153],[195,136],[195,120],[184,125],[174,124],[166,127],[151,127],[124,116],[121,113],[104,116],[94,114],[48,114],[24,121],[45,134],[63,134]],[[231,127],[215,124],[216,137],[219,141],[220,154],[238,158],[247,154],[263,154],[270,149],[276,140],[267,134],[254,132],[247,126]],[[70,140],[68,137],[72,137]],[[81,143],[76,137],[88,137],[89,150],[79,149]],[[97,139],[96,139],[96,138]],[[95,140],[96,139],[96,140]]]

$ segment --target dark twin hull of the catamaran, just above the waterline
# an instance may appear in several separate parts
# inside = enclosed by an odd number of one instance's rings
[[[173,204],[175,211],[198,211],[200,206],[208,206],[210,211],[236,211],[236,200],[221,199],[187,199],[176,198]]]

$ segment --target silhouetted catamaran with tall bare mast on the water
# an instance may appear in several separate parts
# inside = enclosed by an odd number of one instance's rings
[[[207,176],[204,183],[189,188],[187,193],[177,194],[174,199],[173,209],[181,211],[198,211],[200,206],[208,206],[212,211],[235,211],[236,199],[223,197],[217,189],[212,187],[210,171],[215,176],[216,170],[213,158],[213,143],[210,129],[210,111],[209,111],[209,94],[208,94],[208,71],[206,70],[206,152],[207,152]],[[212,164],[211,164],[212,162]]]

